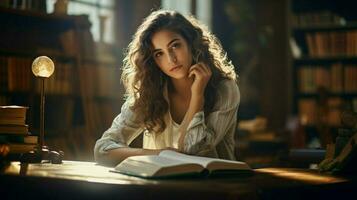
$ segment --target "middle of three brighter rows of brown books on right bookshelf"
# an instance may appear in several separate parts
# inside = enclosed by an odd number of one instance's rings
[[[331,66],[304,65],[298,69],[298,88],[315,93],[319,87],[330,92],[357,92],[357,65],[334,63]]]

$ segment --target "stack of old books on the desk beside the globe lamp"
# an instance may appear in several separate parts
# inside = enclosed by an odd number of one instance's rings
[[[27,153],[37,145],[38,136],[31,135],[26,124],[26,111],[23,106],[0,106],[0,143],[9,146],[9,154]]]

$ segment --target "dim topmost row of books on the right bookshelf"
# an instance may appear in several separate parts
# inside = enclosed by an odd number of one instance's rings
[[[321,25],[343,25],[345,19],[329,10],[318,12],[297,13],[292,16],[292,24],[295,27],[309,27]]]

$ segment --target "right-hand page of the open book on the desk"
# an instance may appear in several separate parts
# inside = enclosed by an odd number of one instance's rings
[[[212,162],[232,163],[232,164],[241,163],[241,162],[237,162],[237,161],[224,160],[224,159],[218,159],[218,158],[191,156],[191,155],[186,155],[183,153],[178,153],[178,152],[172,151],[172,150],[161,151],[161,153],[159,155],[163,156],[163,157],[171,158],[171,159],[180,160],[182,162],[197,163],[197,164],[202,165],[205,168],[207,168],[207,166]]]

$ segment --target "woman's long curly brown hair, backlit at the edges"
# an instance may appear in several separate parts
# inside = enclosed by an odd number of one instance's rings
[[[122,81],[126,97],[132,100],[131,109],[149,132],[166,128],[164,116],[169,104],[164,98],[164,87],[169,80],[153,58],[151,42],[154,33],[169,30],[180,34],[189,44],[193,62],[203,62],[212,70],[205,89],[205,116],[215,102],[217,85],[222,79],[236,80],[234,66],[218,39],[194,17],[184,17],[176,11],[157,10],[146,17],[137,29],[124,58]]]

